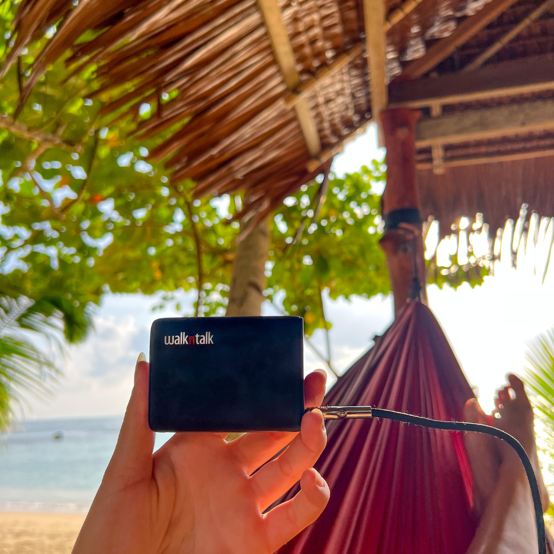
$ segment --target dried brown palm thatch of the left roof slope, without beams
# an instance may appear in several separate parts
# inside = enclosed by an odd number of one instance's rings
[[[352,0],[286,0],[280,8],[301,82],[360,42]],[[166,161],[172,182],[196,181],[198,195],[247,189],[255,211],[267,213],[370,119],[366,63],[357,47],[332,79],[317,80],[304,95],[322,148],[322,159],[311,160],[255,0],[81,0],[76,7],[71,0],[23,0],[0,77],[54,24],[57,33],[35,60],[18,110],[70,49],[73,73],[98,64],[98,89],[90,96],[104,102],[102,115],[136,116],[143,102],[157,105],[136,134],[167,133],[151,156]],[[86,31],[95,38],[83,42]],[[177,96],[163,101],[172,90]]]

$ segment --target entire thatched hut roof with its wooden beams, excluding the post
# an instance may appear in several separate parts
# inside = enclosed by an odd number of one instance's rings
[[[524,202],[554,207],[553,10],[535,0],[23,0],[2,75],[57,25],[20,107],[70,49],[75,71],[98,64],[104,114],[157,104],[137,133],[167,132],[151,156],[173,183],[248,191],[243,216],[259,221],[382,110],[420,110],[423,218],[449,229],[481,212],[494,230]],[[83,42],[86,31],[96,38]]]

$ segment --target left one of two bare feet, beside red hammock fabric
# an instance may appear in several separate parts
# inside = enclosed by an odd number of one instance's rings
[[[476,398],[470,398],[465,403],[464,419],[470,423],[490,425],[490,418],[483,412]],[[498,481],[500,454],[494,437],[490,435],[465,433],[464,443],[473,471],[474,511],[480,519]]]

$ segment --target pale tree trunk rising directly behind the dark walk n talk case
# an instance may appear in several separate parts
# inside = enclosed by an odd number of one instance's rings
[[[240,223],[243,232],[249,223]],[[256,316],[261,314],[265,300],[265,261],[269,252],[269,222],[265,219],[256,225],[235,249],[231,274],[231,288],[227,316]]]

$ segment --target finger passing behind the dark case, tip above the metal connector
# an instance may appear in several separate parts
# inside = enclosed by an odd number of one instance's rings
[[[306,408],[321,406],[325,396],[326,381],[327,374],[323,370],[316,370],[306,376],[304,379],[304,406]],[[283,450],[296,435],[297,433],[279,431],[247,433],[231,444],[235,455],[239,457],[250,475],[280,450]]]

